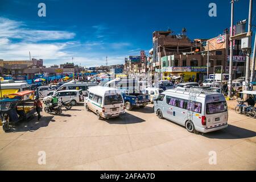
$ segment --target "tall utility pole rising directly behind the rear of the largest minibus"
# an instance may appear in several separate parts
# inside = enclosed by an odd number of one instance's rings
[[[230,36],[233,36],[233,15],[234,15],[234,0],[231,2],[231,22],[230,22]],[[232,79],[233,79],[233,40],[230,39],[230,53],[229,53],[229,92],[228,97],[232,97]]]

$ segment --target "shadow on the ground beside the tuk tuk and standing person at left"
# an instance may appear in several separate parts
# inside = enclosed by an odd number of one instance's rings
[[[10,130],[7,132],[11,133],[11,132],[35,131],[40,129],[41,127],[47,127],[49,125],[49,122],[55,122],[55,120],[52,118],[53,116],[46,116],[46,117],[42,117],[40,121],[38,121],[37,117],[34,117],[28,121],[21,121],[20,123],[16,123],[16,125],[10,126]]]

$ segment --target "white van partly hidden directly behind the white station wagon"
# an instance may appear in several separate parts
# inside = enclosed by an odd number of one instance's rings
[[[96,83],[93,82],[67,82],[63,85],[61,85],[57,90],[55,90],[54,93],[60,91],[60,90],[82,90],[82,93],[85,94],[90,88],[90,86],[96,86]]]

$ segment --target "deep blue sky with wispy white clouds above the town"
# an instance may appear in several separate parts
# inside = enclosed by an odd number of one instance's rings
[[[46,17],[38,4],[46,4]],[[217,17],[208,15],[216,3]],[[256,25],[256,2],[253,24]],[[249,0],[235,3],[234,23],[247,19]],[[67,61],[91,67],[120,64],[129,55],[152,48],[152,32],[183,27],[191,39],[212,38],[230,26],[230,0],[42,0],[0,1],[0,59],[29,59],[28,52],[45,65]],[[255,31],[255,27],[253,31]]]

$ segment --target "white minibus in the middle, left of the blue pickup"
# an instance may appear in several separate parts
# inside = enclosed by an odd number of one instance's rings
[[[118,89],[94,86],[88,91],[84,100],[85,109],[96,113],[98,119],[109,119],[125,114],[125,104]]]

